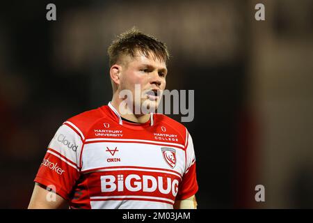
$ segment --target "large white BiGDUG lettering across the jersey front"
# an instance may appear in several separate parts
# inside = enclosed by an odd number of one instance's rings
[[[150,192],[176,197],[179,180],[165,176],[145,174],[117,174],[100,177],[102,192]]]

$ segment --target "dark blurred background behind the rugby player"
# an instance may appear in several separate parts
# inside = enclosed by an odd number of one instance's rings
[[[257,3],[265,21],[255,20]],[[198,208],[313,208],[309,0],[1,3],[0,208],[28,206],[63,121],[111,100],[106,49],[132,26],[167,43],[167,89],[195,90],[195,118],[184,125]],[[255,201],[258,184],[265,202]]]

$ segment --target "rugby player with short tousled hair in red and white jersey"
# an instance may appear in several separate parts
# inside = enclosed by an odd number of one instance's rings
[[[166,45],[133,28],[108,54],[111,102],[58,128],[29,208],[196,208],[191,135],[154,113],[166,87]]]

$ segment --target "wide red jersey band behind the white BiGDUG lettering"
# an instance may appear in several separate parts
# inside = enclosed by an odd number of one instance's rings
[[[181,182],[179,176],[172,174],[127,169],[93,172],[86,178],[90,199],[134,196],[175,201]]]

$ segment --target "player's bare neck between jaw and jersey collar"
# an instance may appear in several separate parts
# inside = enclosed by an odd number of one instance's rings
[[[122,103],[123,98],[119,98],[118,97],[118,91],[115,91],[115,93],[113,94],[113,98],[111,100],[111,105],[113,105],[113,107],[116,109],[116,111],[118,111],[118,114],[120,114],[120,116],[122,118],[126,118],[129,121],[134,121],[135,123],[146,123],[147,121],[149,121],[150,119],[150,114],[134,114],[131,109],[129,109],[127,107],[126,110],[126,114],[125,111],[120,111],[120,104]],[[134,109],[133,109],[134,111]]]

